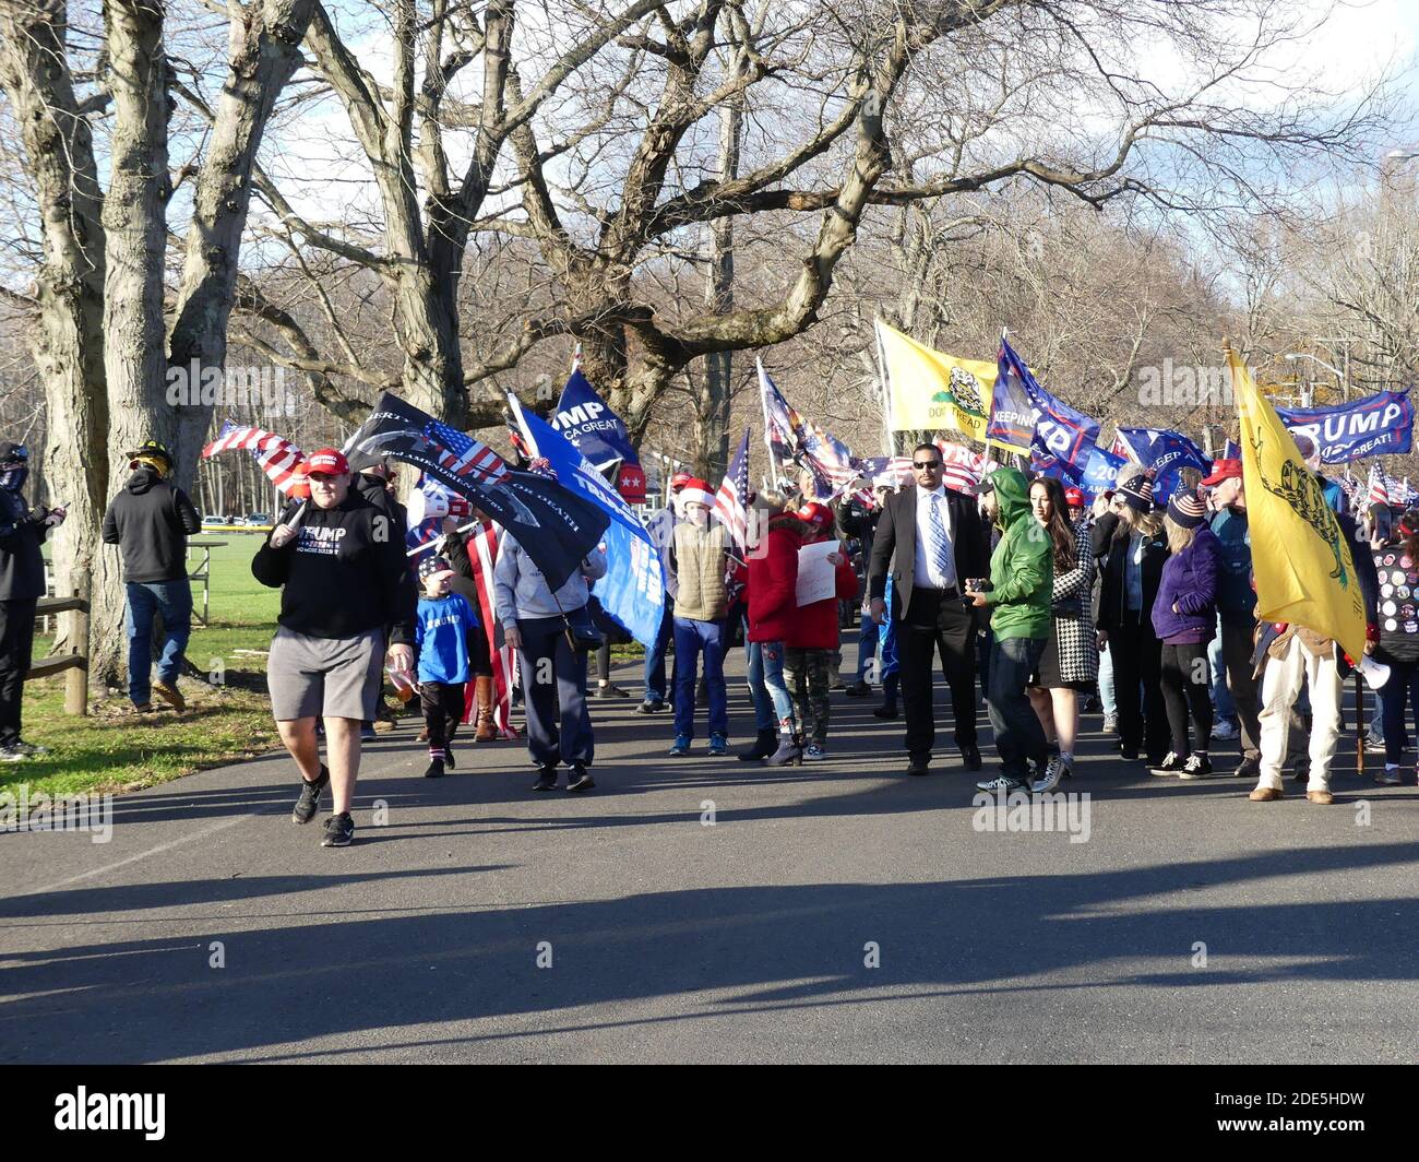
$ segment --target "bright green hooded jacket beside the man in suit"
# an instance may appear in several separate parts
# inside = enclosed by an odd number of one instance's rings
[[[990,554],[990,629],[999,638],[1047,638],[1053,628],[1050,591],[1054,558],[1044,527],[1030,511],[1030,484],[1013,467],[996,469],[990,483],[1005,530]]]

